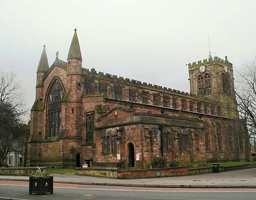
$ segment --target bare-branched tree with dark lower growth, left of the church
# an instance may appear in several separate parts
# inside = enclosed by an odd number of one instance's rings
[[[0,72],[0,167],[7,167],[8,153],[26,142],[28,126],[22,118],[27,109],[22,97],[16,75]]]

